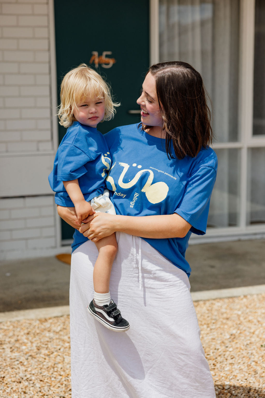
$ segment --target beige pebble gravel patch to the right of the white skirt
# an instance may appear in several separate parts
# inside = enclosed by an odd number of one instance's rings
[[[217,398],[265,398],[265,294],[195,302]]]

